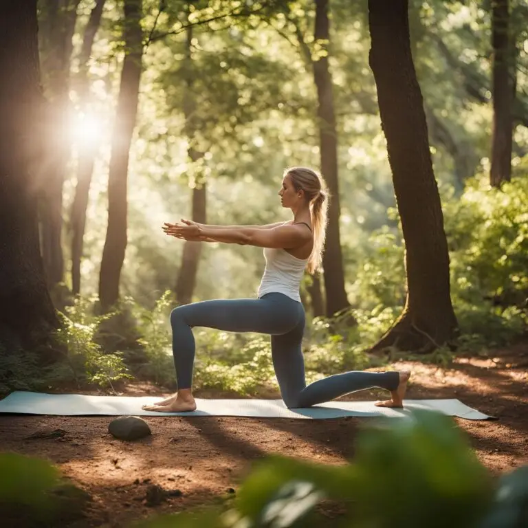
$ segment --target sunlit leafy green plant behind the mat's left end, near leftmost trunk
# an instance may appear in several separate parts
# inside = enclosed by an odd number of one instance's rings
[[[131,376],[127,373],[122,353],[104,353],[94,338],[98,327],[113,314],[94,316],[91,301],[76,299],[73,306],[58,313],[62,325],[56,331],[56,339],[65,349],[63,371],[56,375],[67,379],[73,376],[77,384],[94,383],[98,386],[112,386],[112,382]]]

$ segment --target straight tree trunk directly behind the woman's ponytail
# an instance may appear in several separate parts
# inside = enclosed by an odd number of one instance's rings
[[[328,18],[329,0],[316,0],[316,22],[314,39],[328,52],[330,30]],[[317,87],[319,144],[321,172],[325,177],[331,198],[328,212],[328,228],[322,266],[325,270],[325,290],[327,292],[327,316],[349,307],[347,292],[344,289],[344,270],[339,234],[341,214],[338,184],[338,134],[336,115],[333,108],[332,78],[328,65],[328,55],[323,53],[313,62],[314,81]]]

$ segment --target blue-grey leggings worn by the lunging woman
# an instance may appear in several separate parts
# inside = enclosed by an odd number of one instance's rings
[[[301,303],[283,294],[266,294],[259,299],[206,300],[179,306],[170,314],[170,324],[178,388],[192,387],[196,348],[192,327],[270,334],[275,375],[288,408],[310,407],[366,388],[395,391],[399,384],[395,371],[353,371],[307,386],[301,349],[305,311]]]

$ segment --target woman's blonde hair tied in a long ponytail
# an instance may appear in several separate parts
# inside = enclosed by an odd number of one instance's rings
[[[295,190],[303,190],[308,200],[311,213],[311,225],[314,228],[314,249],[308,259],[307,271],[314,274],[320,270],[322,252],[325,249],[327,236],[327,210],[329,194],[322,176],[307,167],[289,167],[285,176],[292,179]]]

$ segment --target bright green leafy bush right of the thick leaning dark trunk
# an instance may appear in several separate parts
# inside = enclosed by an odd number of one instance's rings
[[[525,172],[528,159],[525,160]],[[484,175],[459,200],[447,200],[452,298],[461,331],[488,345],[527,328],[528,179],[490,189]]]

